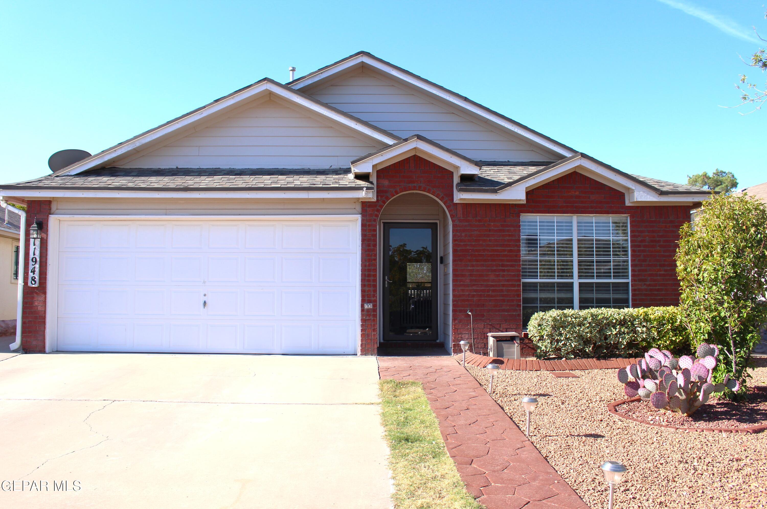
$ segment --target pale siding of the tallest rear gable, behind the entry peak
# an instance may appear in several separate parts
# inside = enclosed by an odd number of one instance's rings
[[[351,113],[403,138],[426,136],[464,156],[481,161],[554,161],[561,156],[533,146],[522,136],[492,128],[446,103],[397,84],[366,67],[329,84],[302,90],[311,97]]]

